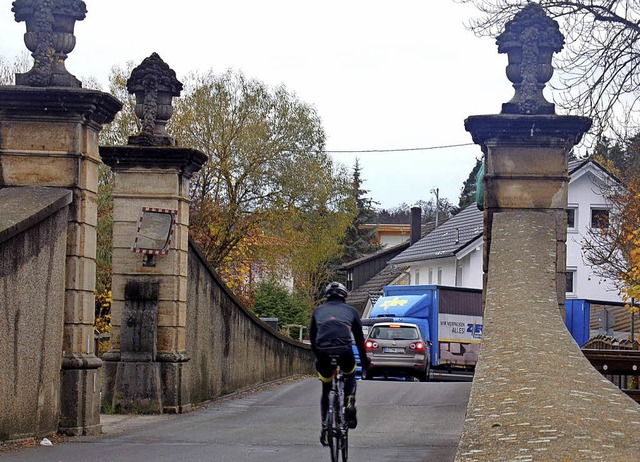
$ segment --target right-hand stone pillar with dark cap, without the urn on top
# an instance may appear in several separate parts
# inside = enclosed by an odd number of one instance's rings
[[[465,122],[485,154],[484,258],[486,285],[493,215],[508,211],[545,212],[553,216],[556,236],[556,288],[564,312],[567,153],[588,129],[583,117],[488,115]],[[517,256],[514,255],[514,261]]]

